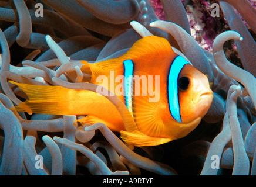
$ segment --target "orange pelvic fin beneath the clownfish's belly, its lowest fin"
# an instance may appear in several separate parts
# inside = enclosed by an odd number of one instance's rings
[[[120,131],[120,133],[123,141],[138,147],[157,146],[171,141],[170,138],[148,136],[147,134],[141,133],[139,130],[131,132]]]

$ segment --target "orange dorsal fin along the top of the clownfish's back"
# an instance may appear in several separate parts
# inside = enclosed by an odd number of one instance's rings
[[[125,60],[136,61],[136,63],[149,63],[149,61],[155,63],[160,57],[170,56],[171,53],[174,53],[173,49],[166,39],[158,36],[147,36],[137,40],[126,54],[118,58],[92,64],[81,61],[84,64],[82,71],[91,72],[93,82],[99,75],[108,75],[110,70],[122,68]]]

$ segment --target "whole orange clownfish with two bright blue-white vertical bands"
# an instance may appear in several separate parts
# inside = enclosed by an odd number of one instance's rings
[[[161,37],[136,41],[121,57],[83,64],[91,83],[107,88],[133,116],[136,130],[126,131],[120,113],[102,93],[62,86],[16,84],[29,100],[12,109],[51,115],[87,115],[81,123],[104,123],[134,146],[156,146],[186,136],[207,113],[213,100],[208,78],[174,53]],[[102,87],[100,87],[102,88]]]

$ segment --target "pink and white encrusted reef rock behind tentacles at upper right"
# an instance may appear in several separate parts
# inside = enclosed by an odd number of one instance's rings
[[[256,7],[254,0],[249,0],[251,5]],[[211,5],[218,3],[217,0],[200,0],[200,1],[184,1],[182,0],[190,21],[191,35],[196,39],[197,43],[200,44],[203,49],[211,51],[213,47],[213,40],[218,34],[229,30],[228,23],[224,18],[222,12],[219,17],[211,16]],[[164,16],[163,6],[160,0],[150,0],[151,5],[156,12],[156,15],[160,20],[166,20]],[[237,12],[238,13],[238,12]],[[239,13],[238,13],[239,14]],[[244,21],[244,20],[243,20]],[[248,27],[247,23],[244,21]],[[250,28],[248,28],[250,30]],[[252,36],[254,36],[254,33]],[[255,38],[255,36],[254,36]]]

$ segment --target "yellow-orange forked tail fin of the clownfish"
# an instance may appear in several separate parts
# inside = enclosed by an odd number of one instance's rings
[[[11,109],[18,112],[65,115],[68,113],[68,91],[62,86],[29,85],[9,81],[17,85],[28,96],[28,100]]]

